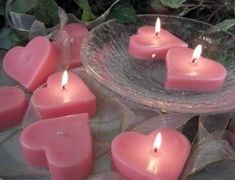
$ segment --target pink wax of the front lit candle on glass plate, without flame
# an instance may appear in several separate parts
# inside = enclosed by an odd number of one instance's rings
[[[220,63],[200,57],[193,62],[193,49],[174,48],[166,57],[165,88],[198,92],[217,91],[223,87],[227,72]]]

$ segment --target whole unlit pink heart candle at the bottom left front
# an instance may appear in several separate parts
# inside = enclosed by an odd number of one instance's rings
[[[87,114],[35,122],[23,130],[20,142],[26,162],[48,168],[54,180],[85,179],[92,169]]]

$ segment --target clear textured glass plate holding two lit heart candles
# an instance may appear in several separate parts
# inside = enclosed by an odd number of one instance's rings
[[[196,93],[164,89],[164,61],[144,61],[128,54],[129,37],[143,25],[162,27],[189,44],[203,45],[203,56],[222,63],[228,72],[223,89]],[[235,109],[235,38],[200,21],[167,15],[140,15],[136,24],[107,21],[85,38],[81,60],[86,71],[121,97],[144,107],[176,113],[216,114]],[[208,67],[209,68],[209,67]]]

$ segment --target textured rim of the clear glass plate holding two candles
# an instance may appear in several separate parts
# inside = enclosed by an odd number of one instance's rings
[[[218,30],[230,35],[231,37],[234,37],[234,35],[230,32],[219,29],[216,26],[211,25],[209,23],[198,21],[195,19],[174,16],[174,15],[161,15],[161,14],[143,14],[143,15],[141,14],[141,15],[138,15],[138,18],[142,18],[142,17],[165,17],[165,18],[173,18],[173,19],[184,20],[184,21],[188,21],[188,22],[199,23],[199,24],[203,24],[203,25],[208,26],[208,28],[218,29]],[[98,25],[97,27],[95,27],[93,30],[91,30],[89,32],[88,36],[84,39],[82,49],[81,49],[81,61],[82,61],[83,65],[85,66],[86,71],[90,75],[92,75],[104,87],[112,90],[118,96],[121,96],[122,98],[129,100],[130,102],[134,102],[144,108],[151,109],[151,110],[158,110],[158,111],[160,110],[163,112],[173,112],[173,113],[188,113],[188,114],[218,114],[218,113],[229,112],[229,111],[232,111],[235,109],[235,101],[233,103],[234,106],[231,106],[231,104],[228,104],[226,106],[211,107],[210,111],[207,110],[206,105],[204,106],[204,108],[200,108],[200,110],[194,110],[193,104],[190,104],[190,103],[187,105],[181,104],[180,108],[179,107],[174,108],[174,106],[178,105],[177,103],[167,102],[167,101],[158,100],[158,99],[146,98],[146,97],[143,97],[141,95],[138,95],[138,94],[131,92],[128,88],[123,88],[120,84],[118,84],[114,81],[110,81],[110,80],[106,80],[106,79],[102,78],[99,73],[97,73],[94,69],[89,67],[89,62],[86,60],[85,53],[83,52],[84,51],[83,46],[85,46],[86,41],[91,38],[93,31],[95,31],[99,28],[102,28],[103,26],[105,26],[109,23],[113,23],[113,22],[116,22],[116,20],[111,19],[109,21],[106,21],[106,22]],[[141,101],[140,101],[140,99],[141,99]],[[180,110],[182,108],[184,108],[184,111]]]

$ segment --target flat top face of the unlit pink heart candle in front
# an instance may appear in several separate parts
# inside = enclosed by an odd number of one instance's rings
[[[92,149],[88,114],[35,122],[23,131],[21,144],[31,150],[43,149],[48,163],[60,166],[80,163]]]

